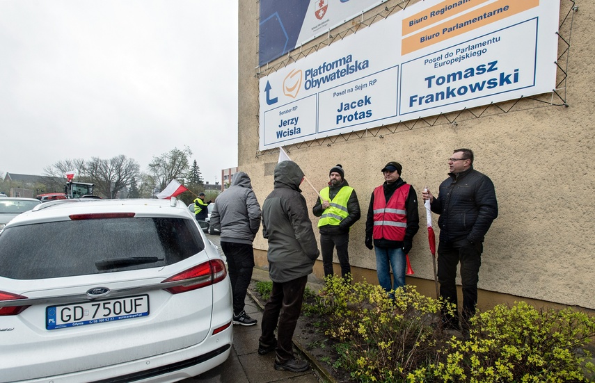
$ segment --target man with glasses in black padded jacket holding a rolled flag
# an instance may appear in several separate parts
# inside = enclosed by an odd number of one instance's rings
[[[482,265],[484,236],[498,217],[494,185],[486,175],[473,169],[473,152],[456,149],[448,159],[449,177],[440,185],[438,198],[424,190],[431,211],[440,214],[438,245],[438,281],[440,295],[454,304],[454,313],[443,310],[443,325],[459,329],[457,309],[457,265],[461,262],[463,316],[461,325],[468,332],[469,319],[475,315],[477,281]]]

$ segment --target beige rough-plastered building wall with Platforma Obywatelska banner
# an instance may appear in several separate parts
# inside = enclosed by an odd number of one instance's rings
[[[595,201],[586,197],[595,182],[595,91],[585,66],[595,59],[595,2],[514,1],[484,17],[496,3],[364,1],[361,14],[339,26],[334,13],[343,3],[329,1],[318,21],[315,1],[305,3],[278,13],[287,2],[239,2],[238,166],[257,198],[271,193],[279,147],[306,174],[310,208],[337,163],[362,201],[388,161],[403,165],[408,184],[436,195],[447,158],[467,147],[495,184],[500,208],[484,243],[478,308],[536,300],[595,309],[595,242],[586,234],[595,231]],[[305,27],[285,31],[289,24]],[[287,51],[259,55],[276,35],[296,38],[283,42]],[[356,281],[374,281],[364,229],[365,220],[351,227],[349,261]],[[261,234],[254,251],[257,266],[266,266]],[[415,275],[407,283],[434,296],[424,235],[409,256]],[[320,260],[315,275],[324,276]]]

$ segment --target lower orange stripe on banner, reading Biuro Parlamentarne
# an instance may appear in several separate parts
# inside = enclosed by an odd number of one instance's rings
[[[473,31],[482,26],[498,22],[502,19],[539,6],[539,0],[499,0],[487,6],[461,15],[456,19],[404,38],[401,54],[409,54],[418,49],[429,47],[436,42],[448,40],[455,36]]]

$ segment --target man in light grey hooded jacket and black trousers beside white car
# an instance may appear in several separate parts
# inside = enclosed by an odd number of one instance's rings
[[[260,214],[250,177],[244,172],[234,174],[231,186],[215,199],[211,213],[211,225],[221,227],[221,249],[228,261],[234,325],[251,326],[257,322],[244,311],[244,300],[252,279],[252,242],[260,227]]]

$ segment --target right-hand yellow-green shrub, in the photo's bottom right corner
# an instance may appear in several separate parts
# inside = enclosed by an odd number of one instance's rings
[[[595,366],[582,347],[594,335],[586,313],[501,304],[472,319],[469,341],[452,339],[408,381],[587,382]]]

